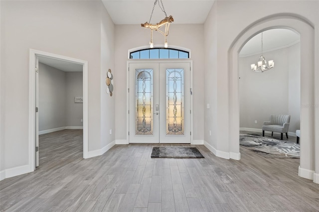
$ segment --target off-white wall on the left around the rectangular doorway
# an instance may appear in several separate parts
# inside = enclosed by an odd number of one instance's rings
[[[5,132],[5,169],[28,165],[30,48],[88,61],[89,151],[102,149],[101,140],[104,143],[112,142],[109,138],[101,137],[101,93],[104,92],[101,86],[101,40],[114,43],[113,36],[105,37],[112,35],[114,24],[103,3],[81,0],[2,0],[0,4],[0,39],[1,44],[4,44],[1,45],[1,114],[5,123],[1,127]],[[107,34],[101,34],[101,21],[109,30]],[[113,54],[112,48],[105,51],[107,56]],[[109,65],[114,66],[112,58],[108,59]],[[114,113],[112,106],[108,113]],[[103,122],[113,124],[112,119]],[[19,133],[16,133],[17,130]]]

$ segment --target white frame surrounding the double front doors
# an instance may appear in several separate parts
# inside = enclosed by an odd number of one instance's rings
[[[127,73],[126,73],[126,140],[127,143],[129,144],[129,129],[130,129],[130,115],[129,115],[129,100],[130,100],[130,96],[129,96],[129,82],[130,82],[130,78],[129,78],[129,65],[130,63],[189,63],[190,64],[190,89],[191,91],[193,90],[193,61],[192,60],[182,60],[182,59],[159,59],[159,60],[128,60],[126,62],[126,69],[127,69]],[[190,95],[190,144],[194,144],[193,143],[193,95]]]

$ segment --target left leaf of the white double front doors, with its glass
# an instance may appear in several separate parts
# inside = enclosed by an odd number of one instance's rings
[[[159,143],[159,64],[129,64],[129,141]]]

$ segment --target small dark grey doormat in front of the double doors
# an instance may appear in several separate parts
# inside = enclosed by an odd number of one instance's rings
[[[151,158],[204,158],[196,147],[153,147]]]

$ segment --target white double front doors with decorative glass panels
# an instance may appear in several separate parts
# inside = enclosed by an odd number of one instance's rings
[[[190,143],[190,66],[129,63],[130,143]]]

